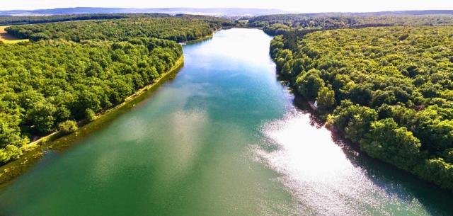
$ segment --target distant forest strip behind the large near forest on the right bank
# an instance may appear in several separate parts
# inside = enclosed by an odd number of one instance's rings
[[[269,35],[297,29],[365,28],[394,25],[453,25],[453,15],[368,16],[348,13],[280,14],[257,16],[248,20],[252,27],[263,27]]]

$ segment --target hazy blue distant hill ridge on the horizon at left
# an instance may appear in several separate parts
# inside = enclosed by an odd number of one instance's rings
[[[278,9],[258,8],[55,8],[42,10],[0,11],[0,16],[48,16],[86,13],[188,13],[212,16],[260,16],[289,13]]]

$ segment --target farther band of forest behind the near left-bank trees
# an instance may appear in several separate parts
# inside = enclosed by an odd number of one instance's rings
[[[203,38],[213,30],[229,23],[220,18],[206,16],[177,16],[166,18],[135,17],[101,21],[77,21],[14,25],[6,28],[8,33],[21,39],[34,41],[64,39],[81,40],[127,40],[128,38],[161,38],[183,42]]]

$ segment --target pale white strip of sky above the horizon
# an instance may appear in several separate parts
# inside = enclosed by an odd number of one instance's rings
[[[301,13],[453,10],[453,0],[3,0],[0,11],[79,6],[122,8],[277,8]]]

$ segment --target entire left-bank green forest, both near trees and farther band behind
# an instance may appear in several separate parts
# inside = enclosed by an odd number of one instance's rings
[[[180,61],[177,42],[206,37],[229,23],[136,15],[7,28],[32,41],[0,42],[0,164],[18,159],[35,137],[74,132],[81,120],[122,103]]]

